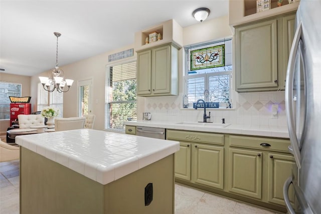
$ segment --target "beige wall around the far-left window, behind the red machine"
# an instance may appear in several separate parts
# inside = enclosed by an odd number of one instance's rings
[[[30,80],[31,80],[31,77],[28,77],[28,76],[0,73],[0,81],[11,82],[11,83],[20,83],[22,85],[21,86],[22,97],[31,96]],[[37,96],[37,94],[36,94],[36,96]],[[31,104],[32,104],[32,111],[33,111],[35,105],[33,102],[31,102]],[[37,107],[37,105],[36,105],[36,107]],[[8,120],[0,120],[0,133],[1,134],[6,133],[7,128],[9,126],[10,126],[9,119]]]

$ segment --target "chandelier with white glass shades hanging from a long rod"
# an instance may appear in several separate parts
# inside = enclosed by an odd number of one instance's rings
[[[57,37],[56,67],[49,72],[49,77],[39,77],[39,79],[46,91],[53,92],[56,89],[59,93],[67,92],[74,81],[69,79],[64,80],[64,71],[58,67],[58,37],[61,34],[54,32],[54,35]]]

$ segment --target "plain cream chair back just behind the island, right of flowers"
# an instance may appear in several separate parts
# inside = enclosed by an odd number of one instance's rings
[[[82,129],[84,128],[85,120],[85,117],[55,118],[55,131]]]

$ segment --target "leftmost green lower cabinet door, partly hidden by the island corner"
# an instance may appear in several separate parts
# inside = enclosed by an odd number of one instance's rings
[[[181,142],[175,153],[175,177],[191,180],[191,143]]]

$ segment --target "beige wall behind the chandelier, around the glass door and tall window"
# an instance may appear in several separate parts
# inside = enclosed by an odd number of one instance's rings
[[[103,130],[105,121],[105,72],[108,64],[108,55],[118,53],[133,48],[131,46],[123,47],[112,52],[106,52],[101,55],[60,67],[65,72],[65,78],[74,80],[73,85],[67,93],[64,93],[64,117],[77,117],[77,82],[81,80],[93,79],[93,108],[92,114],[96,115],[94,129]],[[136,59],[136,54],[132,59]],[[128,60],[130,58],[126,58]],[[121,60],[113,61],[113,64]],[[48,76],[48,72],[35,75],[31,78],[31,94],[37,97],[38,76]],[[34,101],[37,104],[37,99]]]

